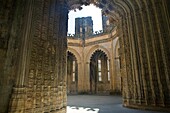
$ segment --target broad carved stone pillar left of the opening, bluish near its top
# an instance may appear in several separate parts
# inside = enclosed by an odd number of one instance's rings
[[[68,7],[65,0],[30,0],[10,112],[66,112]]]

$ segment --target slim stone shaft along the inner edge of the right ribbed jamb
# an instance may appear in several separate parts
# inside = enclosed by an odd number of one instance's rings
[[[131,95],[130,95],[130,86],[129,84],[132,83],[131,82],[131,78],[129,77],[129,74],[128,72],[130,72],[130,68],[129,65],[130,65],[130,60],[129,60],[129,55],[128,55],[128,39],[127,39],[127,34],[125,32],[125,30],[127,29],[127,25],[126,25],[126,21],[127,21],[127,18],[125,17],[122,17],[121,18],[121,23],[120,25],[118,26],[118,32],[120,34],[124,34],[124,35],[120,35],[120,45],[121,45],[121,51],[120,51],[120,60],[121,60],[121,75],[122,75],[122,78],[123,78],[123,103],[124,103],[124,106],[127,106],[129,105],[129,100],[131,98]],[[128,62],[127,62],[128,61]]]

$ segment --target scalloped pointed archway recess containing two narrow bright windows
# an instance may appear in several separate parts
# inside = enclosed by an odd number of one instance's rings
[[[107,55],[96,50],[90,59],[90,93],[109,94],[110,91],[110,70]]]

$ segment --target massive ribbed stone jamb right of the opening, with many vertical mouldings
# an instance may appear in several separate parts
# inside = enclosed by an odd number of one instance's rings
[[[121,45],[125,49],[121,48],[121,50],[125,50],[125,53],[121,53],[121,65],[126,64],[127,70],[121,66],[121,73],[126,77],[123,72],[127,71],[127,78],[124,78],[123,82],[123,98],[129,100],[129,104],[124,101],[124,105],[169,111],[170,28],[166,7],[161,0],[145,3],[140,1],[140,6],[141,8],[136,6],[135,11],[127,17],[127,20],[124,18],[125,22],[123,22],[125,39],[124,43],[121,40]],[[131,45],[130,51],[129,45]],[[131,53],[130,62],[129,53]],[[122,57],[125,58],[125,62]],[[129,69],[132,70],[131,73]]]

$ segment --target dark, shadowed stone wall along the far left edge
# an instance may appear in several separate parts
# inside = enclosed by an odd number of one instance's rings
[[[22,3],[23,1],[20,1]],[[17,1],[0,3],[0,113],[8,111],[12,87],[16,78],[18,40],[22,21],[21,7]],[[17,12],[17,13],[16,13]],[[18,14],[18,15],[17,15]],[[21,38],[20,38],[21,40]]]

